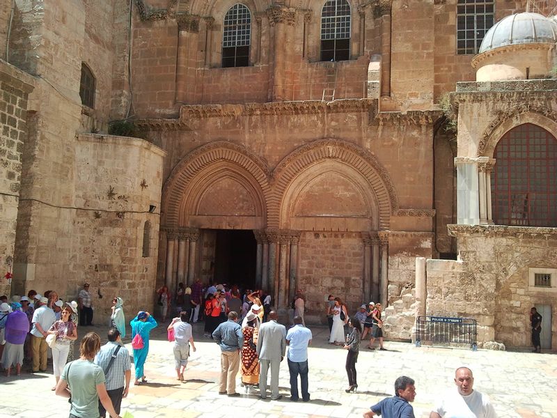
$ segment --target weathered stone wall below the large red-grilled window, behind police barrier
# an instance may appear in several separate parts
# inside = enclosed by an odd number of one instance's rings
[[[508,347],[530,345],[530,308],[552,306],[552,347],[556,347],[555,293],[528,287],[528,268],[556,268],[557,240],[551,228],[511,226],[449,227],[460,261],[427,261],[427,315],[478,321],[478,342]]]

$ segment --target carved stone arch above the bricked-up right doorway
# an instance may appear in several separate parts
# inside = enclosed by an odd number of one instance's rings
[[[342,162],[361,174],[375,195],[379,229],[389,229],[391,213],[398,210],[398,199],[389,173],[369,151],[337,139],[320,139],[301,146],[277,165],[273,171],[274,198],[269,201],[269,228],[281,227],[281,210],[288,206],[285,205],[288,187],[303,171],[327,159]]]

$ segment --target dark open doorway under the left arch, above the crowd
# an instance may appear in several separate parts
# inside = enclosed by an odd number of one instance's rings
[[[256,287],[257,242],[251,230],[219,229],[214,251],[217,283]]]

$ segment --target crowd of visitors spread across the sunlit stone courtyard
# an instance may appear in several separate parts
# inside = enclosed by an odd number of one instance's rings
[[[1,297],[0,357],[10,376],[15,369],[20,375],[24,359],[29,359],[31,373],[47,371],[47,357],[52,357],[55,385],[52,390],[70,398],[70,416],[79,418],[118,417],[120,405],[130,390],[130,353],[123,345],[126,336],[124,301],[112,300],[108,342],[100,345],[100,336],[87,333],[79,347],[79,358],[73,359],[73,344],[78,328],[93,325],[93,297],[84,284],[77,301],[63,302],[54,291],[40,295],[29,291],[27,296],[14,296],[10,303]],[[291,303],[293,326],[287,330],[278,323],[278,313],[272,300],[262,290],[240,292],[237,286],[212,284],[204,287],[197,280],[191,288],[179,284],[173,298],[166,286],[156,293],[159,297],[160,318],[166,323],[168,341],[173,341],[176,378],[185,381],[185,371],[191,350],[196,351],[191,323],[205,321],[205,336],[213,339],[221,349],[219,394],[240,396],[236,392],[236,376],[240,371],[246,394],[258,394],[272,400],[281,399],[278,374],[280,364],[287,358],[290,374],[290,401],[310,401],[308,392],[308,346],[312,332],[305,324],[306,298],[296,291]],[[348,387],[358,388],[356,362],[361,341],[369,334],[368,348],[385,350],[382,335],[382,305],[362,304],[349,316],[340,297],[329,295],[325,314],[329,323],[329,343],[347,350],[345,369]],[[533,313],[533,316],[535,312]],[[540,319],[535,317],[536,325]],[[134,362],[134,385],[147,382],[144,365],[148,357],[150,332],[157,320],[148,311],[139,311],[130,321]],[[347,328],[346,328],[347,326]],[[345,330],[348,332],[345,334]],[[287,352],[288,348],[288,352]],[[74,361],[72,361],[74,360]],[[270,387],[267,387],[270,375]],[[298,385],[300,382],[300,385]],[[454,405],[471,410],[476,417],[494,418],[495,412],[486,396],[473,391],[470,369],[461,367],[455,373],[457,392],[447,395],[431,412],[430,418],[452,417]],[[299,391],[300,389],[300,391]],[[258,391],[258,393],[257,393]],[[414,380],[401,376],[395,382],[395,396],[373,405],[364,417],[382,415],[385,418],[412,418],[411,403],[416,391]],[[478,415],[482,411],[482,415]],[[473,415],[471,415],[473,416]]]

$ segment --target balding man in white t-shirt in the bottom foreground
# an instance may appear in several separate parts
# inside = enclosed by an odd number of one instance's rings
[[[446,392],[430,413],[430,418],[497,418],[489,398],[473,389],[474,378],[468,367],[455,373],[456,389]]]

